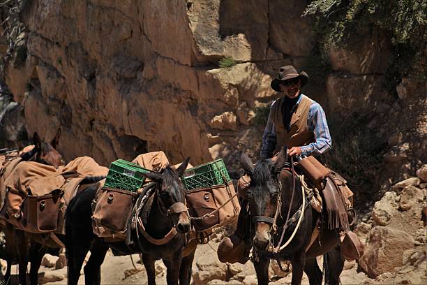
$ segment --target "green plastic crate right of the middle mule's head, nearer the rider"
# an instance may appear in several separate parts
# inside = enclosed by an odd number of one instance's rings
[[[184,171],[181,180],[186,189],[191,190],[224,184],[223,177],[225,181],[231,181],[223,159],[217,159]]]

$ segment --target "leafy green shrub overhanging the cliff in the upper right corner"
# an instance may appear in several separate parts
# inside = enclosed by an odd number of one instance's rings
[[[423,56],[427,41],[426,12],[424,0],[314,0],[304,15],[313,17],[315,35],[324,50],[329,45],[352,44],[354,35],[363,30],[376,28],[389,35],[394,50],[387,75],[394,89],[407,73],[424,74],[414,70],[414,63]]]

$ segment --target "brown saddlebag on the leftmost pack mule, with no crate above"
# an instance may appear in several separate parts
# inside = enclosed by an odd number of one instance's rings
[[[25,196],[22,201],[22,226],[29,233],[48,233],[58,227],[61,191],[42,196]]]

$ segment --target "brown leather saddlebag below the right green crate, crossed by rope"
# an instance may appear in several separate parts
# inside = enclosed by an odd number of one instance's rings
[[[239,199],[232,182],[186,193],[186,203],[196,231],[225,226],[236,220],[240,212]],[[211,214],[210,214],[211,213]]]

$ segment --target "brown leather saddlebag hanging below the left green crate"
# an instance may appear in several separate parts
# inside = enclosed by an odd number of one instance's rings
[[[92,203],[92,229],[100,238],[125,240],[137,193],[100,187]]]

